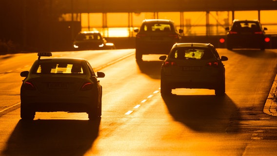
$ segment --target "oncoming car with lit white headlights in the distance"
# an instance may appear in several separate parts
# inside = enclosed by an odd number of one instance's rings
[[[80,32],[73,42],[74,50],[116,49],[113,43],[108,43],[98,31]]]

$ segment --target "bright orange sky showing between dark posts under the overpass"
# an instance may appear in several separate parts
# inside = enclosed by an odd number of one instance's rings
[[[93,13],[93,14],[82,14],[81,15],[81,24],[82,31],[88,30],[88,19],[90,30],[99,30],[102,28],[102,13]],[[133,15],[133,27],[139,27],[141,21],[144,19],[155,18],[154,13],[140,13]],[[226,21],[229,21],[229,24],[232,23],[232,12],[210,12],[209,14],[210,24],[219,24],[226,25]],[[260,22],[264,27],[268,28],[268,32],[277,34],[277,10],[262,10],[260,11]],[[128,36],[129,31],[126,29],[128,27],[128,13],[107,13],[107,26],[109,28],[116,27],[115,30],[110,29],[109,35],[118,33],[118,35]],[[156,15],[157,16],[157,15]],[[174,20],[176,25],[180,25],[180,13],[179,12],[159,12],[158,19],[170,19]],[[236,11],[235,19],[239,20],[254,20],[258,19],[258,11]],[[206,24],[206,12],[183,12],[184,24],[190,24],[193,27],[191,28],[191,33],[205,33],[202,27],[196,25],[205,25]],[[274,24],[274,25],[268,25]],[[96,28],[96,29],[92,29]],[[217,28],[218,29],[218,28]],[[224,31],[223,26],[219,28],[219,31]],[[221,30],[222,29],[222,30]],[[116,35],[117,36],[117,35]]]

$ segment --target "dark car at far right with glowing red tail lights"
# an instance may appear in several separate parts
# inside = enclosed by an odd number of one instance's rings
[[[265,30],[258,20],[234,20],[227,32],[227,49],[259,48],[265,49]]]

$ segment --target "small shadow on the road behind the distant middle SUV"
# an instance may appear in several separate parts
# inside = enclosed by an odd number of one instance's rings
[[[162,61],[153,60],[153,61],[137,61],[139,70],[141,73],[148,75],[153,79],[160,79],[160,67]]]

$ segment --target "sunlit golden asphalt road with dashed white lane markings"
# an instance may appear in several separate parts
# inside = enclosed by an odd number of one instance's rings
[[[159,93],[157,55],[135,50],[55,52],[88,59],[106,74],[102,117],[37,113],[20,120],[20,72],[37,54],[0,56],[0,156],[276,156],[277,117],[264,106],[277,72],[277,50],[218,49],[227,56],[226,95],[213,90]]]

